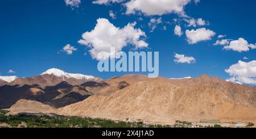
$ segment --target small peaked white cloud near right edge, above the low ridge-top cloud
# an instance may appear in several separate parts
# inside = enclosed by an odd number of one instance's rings
[[[251,49],[255,49],[254,44],[249,44],[247,40],[240,37],[238,40],[230,41],[229,45],[226,45],[223,49],[225,50],[234,50],[237,52],[247,52]]]

